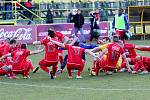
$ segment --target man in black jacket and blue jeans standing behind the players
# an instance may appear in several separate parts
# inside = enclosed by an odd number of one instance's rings
[[[84,16],[81,14],[80,9],[78,9],[77,14],[73,16],[73,22],[75,35],[77,36],[78,31],[80,31],[81,41],[85,43],[84,30],[82,27],[84,24]]]

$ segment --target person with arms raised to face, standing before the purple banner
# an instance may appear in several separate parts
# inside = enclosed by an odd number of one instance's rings
[[[90,16],[92,17],[90,19],[90,22],[91,22],[90,42],[92,42],[93,38],[98,39],[98,37],[100,36],[100,29],[99,29],[100,13],[99,13],[99,9],[96,9],[94,12],[91,12]]]

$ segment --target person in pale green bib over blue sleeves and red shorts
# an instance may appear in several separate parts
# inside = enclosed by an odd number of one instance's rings
[[[116,30],[116,34],[120,36],[121,40],[127,39],[127,35],[125,34],[129,30],[129,23],[127,16],[123,14],[123,9],[120,8],[118,14],[115,15],[112,28]],[[124,41],[125,42],[125,41]]]

